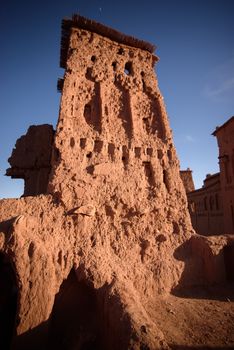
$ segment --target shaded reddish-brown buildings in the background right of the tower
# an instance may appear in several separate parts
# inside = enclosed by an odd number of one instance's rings
[[[234,116],[212,135],[219,146],[220,172],[206,176],[202,188],[187,192],[194,229],[202,235],[234,233]],[[182,177],[183,180],[183,177]]]

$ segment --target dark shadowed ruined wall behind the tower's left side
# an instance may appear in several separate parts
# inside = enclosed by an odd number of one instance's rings
[[[7,169],[6,175],[24,179],[24,196],[47,191],[53,137],[51,125],[33,125],[16,142],[8,159],[11,168]]]

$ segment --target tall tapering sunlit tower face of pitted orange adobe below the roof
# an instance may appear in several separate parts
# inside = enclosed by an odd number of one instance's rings
[[[178,282],[173,252],[192,231],[154,62],[72,29],[48,188],[86,211],[77,260],[96,285],[125,276],[145,297]]]

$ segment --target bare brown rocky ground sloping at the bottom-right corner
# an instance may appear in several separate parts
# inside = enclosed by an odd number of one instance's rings
[[[234,349],[234,284],[161,297],[147,308],[172,349]]]

